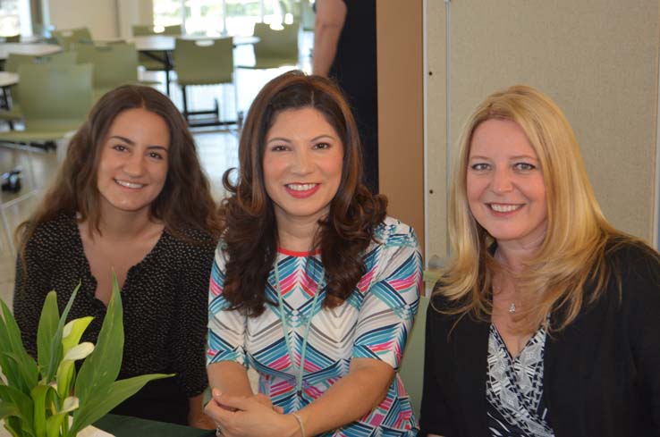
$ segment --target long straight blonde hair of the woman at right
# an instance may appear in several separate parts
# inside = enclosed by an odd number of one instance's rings
[[[633,239],[605,220],[571,125],[550,97],[535,88],[519,85],[492,94],[478,105],[464,127],[450,200],[453,259],[436,292],[455,304],[447,310],[450,314],[470,314],[478,320],[489,320],[492,314],[491,282],[501,267],[488,250],[495,240],[474,219],[466,194],[472,135],[480,123],[490,119],[515,122],[525,132],[546,188],[546,236],[517,278],[517,290],[529,308],[517,319],[517,329],[534,332],[546,324],[548,315],[561,310],[554,325],[547,326],[558,332],[579,314],[586,284],[595,284],[588,302],[604,290],[612,273],[605,257],[613,248],[608,242]]]

